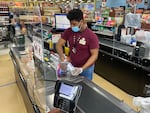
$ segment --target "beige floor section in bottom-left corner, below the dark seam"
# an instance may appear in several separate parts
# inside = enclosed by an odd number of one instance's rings
[[[16,83],[0,87],[0,113],[27,113]]]

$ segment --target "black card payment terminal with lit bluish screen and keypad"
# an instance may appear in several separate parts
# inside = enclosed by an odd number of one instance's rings
[[[65,113],[74,113],[81,91],[81,85],[58,80],[55,85],[54,107]]]

